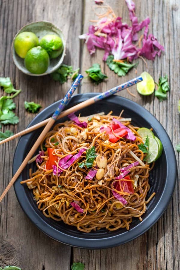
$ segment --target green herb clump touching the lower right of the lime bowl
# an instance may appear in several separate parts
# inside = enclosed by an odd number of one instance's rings
[[[71,76],[74,80],[78,76],[79,68],[73,70],[72,66],[62,64],[55,72],[51,73],[52,79],[59,81],[61,84],[67,82],[67,78]]]

